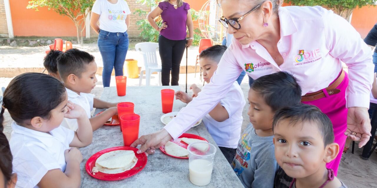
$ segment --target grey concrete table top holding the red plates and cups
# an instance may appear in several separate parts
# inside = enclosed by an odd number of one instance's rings
[[[160,121],[160,117],[163,115],[160,91],[165,88],[174,89],[175,91],[179,90],[179,86],[127,87],[126,96],[119,97],[116,94],[116,88],[109,87],[104,88],[101,99],[109,102],[133,102],[135,104],[135,113],[140,115],[139,136],[141,136],[156,132],[164,127],[164,124]],[[179,111],[185,105],[185,103],[179,100],[174,100],[173,112]],[[103,111],[103,109],[96,109],[94,114],[100,111]],[[187,133],[202,136],[207,139],[209,143],[217,147],[215,141],[202,123],[191,128]],[[189,180],[189,160],[167,156],[160,150],[156,150],[154,155],[148,157],[146,167],[135,176],[117,181],[103,181],[89,176],[85,170],[87,159],[94,153],[116,146],[123,146],[123,137],[119,126],[103,126],[93,133],[92,144],[80,149],[84,158],[80,165],[81,187],[197,187]],[[211,182],[204,187],[243,187],[241,181],[238,179],[219,148],[217,148],[215,154]]]

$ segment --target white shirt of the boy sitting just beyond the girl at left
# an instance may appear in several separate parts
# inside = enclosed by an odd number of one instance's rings
[[[76,105],[80,105],[86,112],[88,118],[90,118],[90,111],[93,110],[93,101],[94,95],[90,93],[80,93],[78,95],[76,92],[66,88],[68,94],[68,100]],[[76,131],[78,128],[77,119],[68,119],[64,118],[63,122],[61,122],[61,126],[66,127],[68,129]]]

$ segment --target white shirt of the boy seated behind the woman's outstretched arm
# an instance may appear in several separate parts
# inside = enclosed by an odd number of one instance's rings
[[[235,149],[241,135],[242,111],[246,104],[244,93],[237,82],[233,83],[220,103],[227,110],[229,118],[218,122],[207,114],[203,117],[203,123],[218,146]]]

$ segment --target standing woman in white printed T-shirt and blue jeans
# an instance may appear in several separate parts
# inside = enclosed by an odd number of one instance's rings
[[[123,76],[129,44],[127,29],[130,26],[130,14],[130,8],[124,0],[96,0],[93,5],[90,26],[98,34],[97,44],[103,61],[104,87],[110,86],[113,68],[115,76]]]

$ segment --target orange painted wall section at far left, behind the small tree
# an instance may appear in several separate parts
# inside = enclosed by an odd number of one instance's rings
[[[15,36],[77,36],[75,24],[68,17],[47,8],[26,9],[28,1],[9,1]]]

